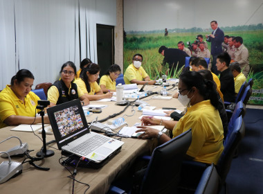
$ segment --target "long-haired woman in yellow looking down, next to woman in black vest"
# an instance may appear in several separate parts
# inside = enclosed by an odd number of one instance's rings
[[[102,98],[111,98],[112,93],[103,94],[102,89],[96,82],[100,74],[100,66],[95,63],[89,64],[82,69],[80,78],[75,80],[75,84],[84,92],[89,100],[100,100]]]

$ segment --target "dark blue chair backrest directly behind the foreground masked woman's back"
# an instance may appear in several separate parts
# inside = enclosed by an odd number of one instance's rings
[[[224,141],[224,151],[222,152],[217,163],[217,172],[221,177],[222,183],[226,180],[226,176],[228,175],[228,171],[230,170],[233,160],[233,155],[235,154],[235,150],[237,149],[240,141],[244,137],[244,134],[244,122],[242,121],[242,116],[239,116],[235,120],[233,127],[228,128],[228,134]]]

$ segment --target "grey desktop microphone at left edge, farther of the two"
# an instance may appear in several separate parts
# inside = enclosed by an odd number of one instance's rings
[[[19,139],[17,136],[10,136],[10,137],[8,137],[8,139],[11,139],[13,137]],[[5,139],[5,140],[1,141],[0,143],[3,143],[4,141],[7,141],[8,139]],[[17,156],[17,157],[23,156],[25,154],[26,150],[28,150],[28,143],[22,143],[22,141],[20,139],[19,139],[19,142],[20,142],[20,145],[17,145],[14,148],[7,150],[6,152],[3,152],[4,154],[1,155],[1,157],[6,158],[8,156],[10,156],[10,157],[12,157],[12,156]],[[6,153],[8,153],[8,154],[6,154]]]

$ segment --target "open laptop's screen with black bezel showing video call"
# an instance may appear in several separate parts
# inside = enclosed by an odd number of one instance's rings
[[[59,149],[89,132],[79,99],[46,110]]]

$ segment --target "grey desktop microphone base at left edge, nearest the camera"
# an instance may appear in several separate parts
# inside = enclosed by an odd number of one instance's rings
[[[7,182],[12,177],[22,173],[23,166],[20,162],[12,161],[8,152],[0,152],[8,156],[8,161],[0,164],[0,184]]]

